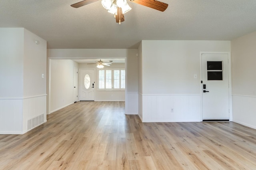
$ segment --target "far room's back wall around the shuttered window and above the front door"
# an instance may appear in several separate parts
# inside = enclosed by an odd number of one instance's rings
[[[95,69],[95,96],[94,96],[94,101],[125,101],[125,91],[117,91],[117,90],[99,90],[98,89],[98,69],[96,65],[88,65],[86,63],[79,63],[78,64],[79,69]],[[124,63],[116,63],[112,64],[110,66],[105,66],[103,69],[125,69],[125,64]]]

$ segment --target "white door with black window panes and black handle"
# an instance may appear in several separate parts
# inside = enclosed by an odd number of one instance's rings
[[[229,120],[228,54],[202,54],[202,118]]]

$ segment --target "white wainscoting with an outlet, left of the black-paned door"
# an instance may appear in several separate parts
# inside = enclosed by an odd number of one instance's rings
[[[142,122],[200,122],[200,94],[142,95],[142,112]]]

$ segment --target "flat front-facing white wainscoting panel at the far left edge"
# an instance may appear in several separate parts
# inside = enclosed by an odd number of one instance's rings
[[[23,99],[0,99],[0,134],[22,134]]]

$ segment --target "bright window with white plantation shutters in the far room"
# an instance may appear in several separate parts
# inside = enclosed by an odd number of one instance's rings
[[[98,72],[99,90],[124,90],[125,70],[124,69],[100,69]]]

